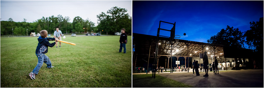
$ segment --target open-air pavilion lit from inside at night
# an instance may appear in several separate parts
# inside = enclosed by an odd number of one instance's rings
[[[155,65],[156,39],[157,36],[133,33],[133,72],[136,67],[144,67],[148,72],[156,68],[153,67]],[[198,60],[198,66],[202,67],[203,60],[200,58],[200,53],[204,51],[208,52],[209,64],[214,61],[214,57],[217,57],[217,63],[224,67],[224,70],[239,70],[255,66],[252,57],[242,53],[243,51],[252,54],[252,50],[249,49],[227,48],[224,45],[181,39],[178,42],[172,40],[171,45],[169,40],[170,38],[159,37],[157,67],[174,68],[181,65],[192,67],[193,60]],[[233,51],[236,53],[232,53]],[[180,64],[176,65],[176,61],[180,61]]]

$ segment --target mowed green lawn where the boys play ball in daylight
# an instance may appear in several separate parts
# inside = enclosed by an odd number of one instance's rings
[[[118,53],[120,36],[66,36],[76,45],[49,47],[45,55],[55,67],[44,63],[32,80],[37,38],[1,38],[1,87],[131,87],[131,36],[126,54]]]

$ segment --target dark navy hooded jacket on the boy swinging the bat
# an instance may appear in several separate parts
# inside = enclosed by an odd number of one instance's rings
[[[38,46],[36,49],[36,53],[48,53],[48,46],[53,47],[56,43],[50,43],[49,41],[54,41],[55,38],[42,38],[41,36],[38,37]]]

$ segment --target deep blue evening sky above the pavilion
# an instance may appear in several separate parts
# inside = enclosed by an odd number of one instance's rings
[[[133,33],[157,36],[159,21],[176,22],[182,40],[207,43],[226,26],[241,32],[263,17],[263,1],[132,1]],[[173,25],[161,24],[170,30]],[[183,33],[186,33],[184,36]],[[170,36],[170,32],[160,31]]]

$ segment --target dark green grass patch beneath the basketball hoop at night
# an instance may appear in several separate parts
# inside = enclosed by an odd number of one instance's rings
[[[132,87],[192,87],[172,79],[168,79],[156,74],[155,79],[152,74],[133,75]]]

